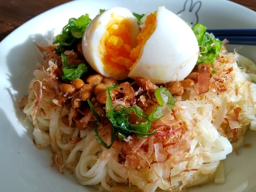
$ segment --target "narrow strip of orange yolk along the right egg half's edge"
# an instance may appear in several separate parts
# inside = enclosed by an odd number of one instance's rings
[[[145,27],[142,28],[142,30],[140,31],[137,37],[138,45],[131,51],[131,54],[130,54],[130,57],[133,63],[136,62],[140,57],[142,47],[148,41],[151,34],[154,33],[155,28],[156,28],[156,12],[150,13],[147,16],[145,21]]]

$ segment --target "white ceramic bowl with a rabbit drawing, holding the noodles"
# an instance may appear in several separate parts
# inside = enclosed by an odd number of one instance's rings
[[[47,45],[59,34],[71,17],[89,13],[93,18],[99,9],[124,6],[137,13],[155,11],[165,5],[174,13],[182,13],[188,22],[202,22],[208,28],[255,28],[256,13],[226,0],[87,0],[72,1],[38,15],[14,30],[0,43],[0,191],[92,191],[78,185],[73,175],[51,167],[51,150],[38,150],[33,143],[31,124],[21,125],[19,99],[26,93],[36,63],[42,61],[34,42]],[[36,9],[36,7],[35,7]],[[256,61],[256,46],[230,45],[230,51]],[[256,187],[256,133],[246,134],[251,148],[239,149],[225,161],[226,183],[207,184],[191,191],[253,191]]]

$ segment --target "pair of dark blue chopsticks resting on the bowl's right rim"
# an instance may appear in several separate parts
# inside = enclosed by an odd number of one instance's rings
[[[256,45],[256,29],[208,29],[215,38],[227,39],[229,44]]]

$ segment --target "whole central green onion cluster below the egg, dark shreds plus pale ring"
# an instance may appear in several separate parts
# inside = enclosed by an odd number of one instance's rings
[[[97,123],[94,127],[94,135],[95,139],[104,147],[110,148],[113,145],[115,140],[115,135],[118,135],[119,140],[124,141],[129,135],[136,134],[141,138],[146,137],[147,135],[156,134],[156,130],[153,132],[149,132],[151,129],[151,121],[157,121],[162,118],[164,115],[162,110],[164,106],[166,106],[169,110],[172,110],[174,107],[174,97],[167,90],[166,87],[161,87],[156,89],[155,96],[159,103],[159,106],[153,110],[153,112],[148,116],[144,113],[144,111],[138,106],[124,107],[122,105],[117,105],[113,108],[112,100],[110,97],[110,91],[114,89],[119,89],[121,85],[111,85],[107,88],[107,101],[106,101],[106,117],[111,123],[111,143],[107,145],[105,141],[99,136],[98,133],[98,125],[100,121],[100,116],[95,110],[90,100],[87,100],[89,106],[96,118]],[[137,116],[137,120],[139,123],[132,124],[129,122],[130,115]]]

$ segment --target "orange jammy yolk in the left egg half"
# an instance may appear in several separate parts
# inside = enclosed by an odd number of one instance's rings
[[[123,17],[114,17],[107,26],[99,43],[103,70],[110,74],[126,73],[133,65],[130,52],[135,46],[130,33],[131,22]]]

